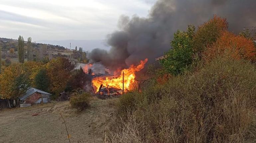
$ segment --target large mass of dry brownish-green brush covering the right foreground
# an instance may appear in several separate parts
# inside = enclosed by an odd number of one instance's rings
[[[217,57],[165,85],[120,101],[111,142],[255,142],[256,69]],[[120,116],[120,115],[119,115]]]

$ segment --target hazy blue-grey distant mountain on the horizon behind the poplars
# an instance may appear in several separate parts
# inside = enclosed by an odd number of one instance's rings
[[[83,48],[83,51],[91,51],[95,48],[110,49],[104,40],[39,40],[37,43],[46,43],[52,45],[60,45],[69,48],[69,43],[71,43],[71,49],[75,49],[75,46]]]

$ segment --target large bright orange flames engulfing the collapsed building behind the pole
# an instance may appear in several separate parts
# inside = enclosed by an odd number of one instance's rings
[[[107,87],[113,87],[118,89],[123,89],[123,73],[124,73],[124,90],[130,90],[130,85],[135,83],[135,73],[142,70],[144,65],[148,62],[148,59],[141,60],[140,64],[137,66],[131,65],[128,69],[123,69],[119,72],[118,77],[98,77],[92,80],[92,84],[99,89],[100,85]],[[97,92],[97,91],[96,91]]]

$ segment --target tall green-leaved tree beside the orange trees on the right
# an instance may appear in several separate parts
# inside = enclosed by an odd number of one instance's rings
[[[194,32],[195,27],[188,26],[187,32],[178,30],[174,34],[171,41],[172,49],[165,54],[164,59],[160,60],[160,64],[167,72],[178,75],[190,67],[192,64]]]

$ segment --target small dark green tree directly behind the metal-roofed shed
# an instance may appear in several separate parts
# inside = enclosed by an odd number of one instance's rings
[[[41,69],[35,77],[35,87],[39,90],[48,92],[50,80],[46,69]]]

